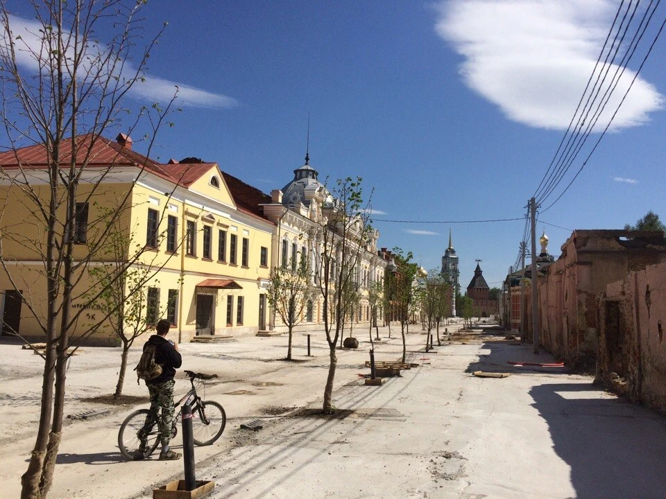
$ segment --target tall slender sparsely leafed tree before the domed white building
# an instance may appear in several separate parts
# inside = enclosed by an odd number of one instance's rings
[[[348,311],[345,290],[357,278],[357,264],[368,242],[370,200],[364,204],[361,179],[338,180],[334,200],[323,204],[316,233],[316,275],[323,300],[323,321],[329,346],[329,368],[324,387],[323,412],[335,412],[333,381],[337,366],[336,345],[341,337],[344,315]]]

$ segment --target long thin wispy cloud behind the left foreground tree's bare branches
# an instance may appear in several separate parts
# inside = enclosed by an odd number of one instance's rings
[[[40,30],[42,24],[37,21],[23,19],[22,17],[11,16],[10,28],[14,38],[21,37],[17,40],[16,60],[19,67],[26,71],[37,73],[40,71],[39,64],[35,59],[35,53],[39,53],[42,46],[42,37],[40,37]],[[0,52],[6,52],[6,40],[4,33],[0,33]],[[92,67],[97,56],[103,53],[101,46],[91,46],[87,49],[89,58],[84,58]],[[123,69],[117,72],[121,78],[134,78],[136,67],[133,67],[130,62],[123,64]],[[83,73],[83,71],[82,71]],[[130,89],[128,94],[133,98],[139,100],[148,100],[146,105],[151,105],[155,102],[167,103],[173,98],[178,87],[178,97],[176,98],[177,106],[189,107],[214,107],[214,108],[228,108],[238,105],[238,101],[232,97],[222,94],[214,94],[212,92],[191,87],[180,82],[165,80],[157,76],[144,74],[145,80],[143,82],[136,82]]]

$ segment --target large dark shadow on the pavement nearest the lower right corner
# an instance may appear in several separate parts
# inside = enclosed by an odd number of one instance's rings
[[[555,452],[571,466],[578,499],[664,497],[666,421],[588,384],[553,383],[529,394]]]

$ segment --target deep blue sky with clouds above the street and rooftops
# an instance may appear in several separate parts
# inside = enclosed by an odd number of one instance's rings
[[[270,193],[303,164],[309,114],[311,166],[331,183],[359,175],[366,191],[374,187],[380,245],[439,268],[451,227],[466,288],[475,259],[490,286],[499,285],[524,222],[448,221],[524,215],[619,2],[185,5],[151,1],[144,10],[146,33],[169,26],[133,99],[151,103],[182,88],[176,126],[160,132],[152,156],[216,161]],[[665,16],[661,8],[654,23]],[[666,218],[665,45],[662,35],[612,130],[561,200],[540,214],[564,227],[538,224],[552,254],[570,229],[621,228],[650,209]],[[627,75],[636,69],[631,62]]]

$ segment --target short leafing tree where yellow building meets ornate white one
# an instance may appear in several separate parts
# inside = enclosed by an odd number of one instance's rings
[[[296,258],[296,255],[293,256]],[[268,303],[287,326],[289,342],[287,360],[291,359],[293,328],[304,319],[303,310],[314,298],[315,289],[311,285],[311,268],[307,256],[301,254],[300,263],[293,268],[277,266],[271,272],[271,286],[268,288]]]

